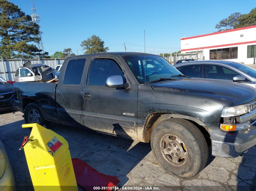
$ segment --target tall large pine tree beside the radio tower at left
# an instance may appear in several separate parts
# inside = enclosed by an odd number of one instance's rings
[[[0,54],[3,59],[44,57],[34,44],[39,25],[31,16],[25,15],[18,6],[7,0],[0,0]]]

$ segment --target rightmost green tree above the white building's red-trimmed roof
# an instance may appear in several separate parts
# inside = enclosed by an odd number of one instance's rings
[[[253,8],[248,14],[243,14],[237,19],[237,21],[238,24],[235,26],[235,28],[256,25],[256,8]]]

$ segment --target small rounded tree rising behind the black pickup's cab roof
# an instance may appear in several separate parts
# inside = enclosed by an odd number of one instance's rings
[[[104,47],[104,41],[96,35],[92,35],[81,42],[81,47],[85,54],[107,52],[108,47]]]

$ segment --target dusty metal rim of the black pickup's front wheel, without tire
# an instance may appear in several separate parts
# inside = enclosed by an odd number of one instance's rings
[[[163,158],[171,165],[182,166],[187,161],[187,148],[176,135],[164,135],[160,141],[160,150]]]

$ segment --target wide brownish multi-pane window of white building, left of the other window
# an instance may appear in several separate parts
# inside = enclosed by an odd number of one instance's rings
[[[210,50],[210,60],[236,59],[238,47]]]

